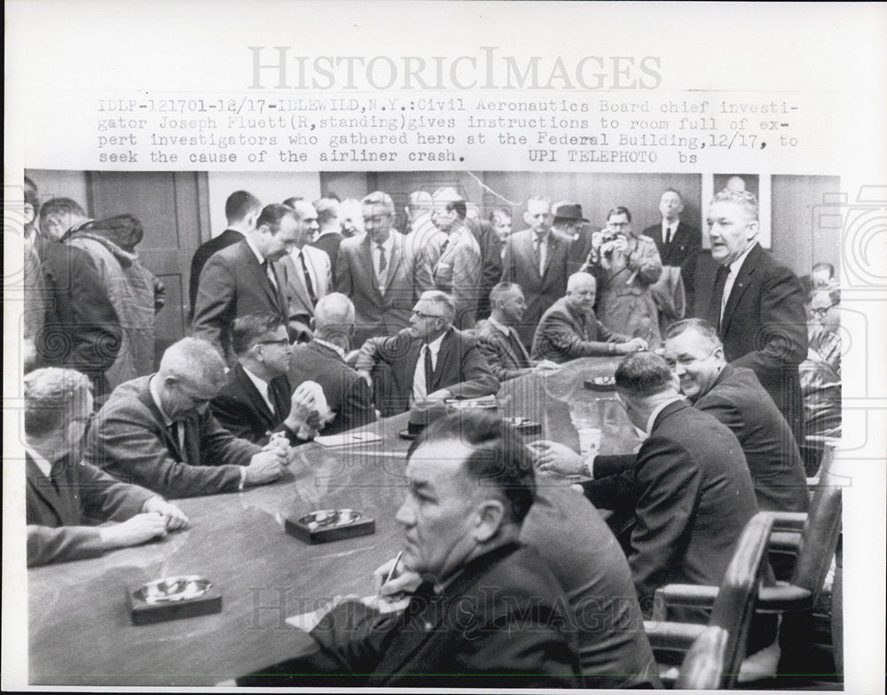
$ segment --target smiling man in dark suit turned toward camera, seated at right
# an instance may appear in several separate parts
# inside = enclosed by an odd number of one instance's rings
[[[671,324],[665,361],[696,409],[718,418],[736,435],[755,484],[757,505],[766,511],[807,511],[804,461],[789,424],[755,372],[726,363],[714,327],[698,318]]]

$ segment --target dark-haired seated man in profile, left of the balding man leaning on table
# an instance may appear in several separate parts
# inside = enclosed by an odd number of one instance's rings
[[[490,317],[477,322],[475,337],[496,379],[507,381],[530,371],[557,369],[550,360],[531,360],[514,330],[527,308],[521,285],[502,282],[493,287],[490,308]]]

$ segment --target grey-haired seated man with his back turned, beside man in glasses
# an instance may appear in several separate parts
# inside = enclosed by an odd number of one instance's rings
[[[289,383],[299,387],[311,380],[323,388],[334,418],[324,434],[338,434],[376,420],[370,385],[345,363],[354,335],[354,304],[341,293],[318,301],[314,315],[314,340],[297,345],[289,358]]]

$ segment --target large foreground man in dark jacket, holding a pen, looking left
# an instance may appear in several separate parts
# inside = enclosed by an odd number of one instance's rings
[[[320,652],[238,684],[576,687],[567,597],[519,543],[536,482],[517,435],[489,416],[437,420],[415,441],[406,482],[396,565],[420,583],[404,610],[345,601],[311,631]]]

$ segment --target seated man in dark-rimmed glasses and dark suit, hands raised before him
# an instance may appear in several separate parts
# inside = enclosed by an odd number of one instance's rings
[[[292,348],[280,316],[241,316],[234,320],[231,334],[237,363],[209,404],[219,424],[261,446],[275,432],[286,434],[293,445],[310,439],[321,423],[307,389],[290,388]]]

